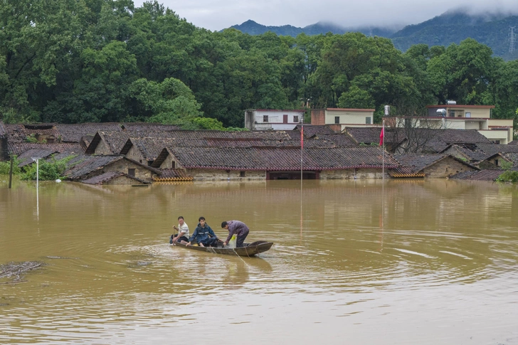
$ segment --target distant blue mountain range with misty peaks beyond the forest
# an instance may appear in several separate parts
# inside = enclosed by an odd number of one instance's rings
[[[509,26],[516,26],[517,51],[509,53]],[[243,33],[260,35],[272,31],[280,36],[297,36],[299,33],[319,35],[320,33],[337,33],[356,31],[366,36],[391,38],[396,48],[406,51],[410,46],[425,43],[428,46],[450,46],[460,43],[466,38],[474,38],[477,42],[489,46],[493,53],[504,60],[518,58],[518,16],[509,14],[467,14],[465,10],[447,11],[428,21],[408,25],[401,30],[383,26],[344,27],[334,23],[314,23],[304,28],[296,26],[264,26],[255,21],[245,21],[231,26]]]

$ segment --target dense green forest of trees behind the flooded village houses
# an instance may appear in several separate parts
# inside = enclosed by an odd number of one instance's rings
[[[375,108],[455,100],[514,119],[518,60],[468,38],[398,51],[388,38],[208,31],[157,1],[0,3],[0,120],[243,127],[247,109]]]

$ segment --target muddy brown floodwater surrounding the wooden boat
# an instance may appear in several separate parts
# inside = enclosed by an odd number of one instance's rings
[[[4,180],[0,265],[45,265],[0,280],[0,344],[518,344],[516,186]],[[171,247],[178,216],[275,244]]]

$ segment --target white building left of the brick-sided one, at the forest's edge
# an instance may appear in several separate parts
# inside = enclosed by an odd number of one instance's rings
[[[245,110],[245,128],[251,131],[292,130],[302,122],[304,113],[305,110]]]

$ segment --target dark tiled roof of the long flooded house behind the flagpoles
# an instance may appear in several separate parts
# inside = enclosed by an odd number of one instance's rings
[[[170,149],[184,168],[233,170],[297,170],[300,169],[300,148],[213,148],[174,147]],[[387,168],[398,166],[385,155]],[[330,170],[380,168],[382,151],[379,147],[308,148],[303,152],[303,169]]]

